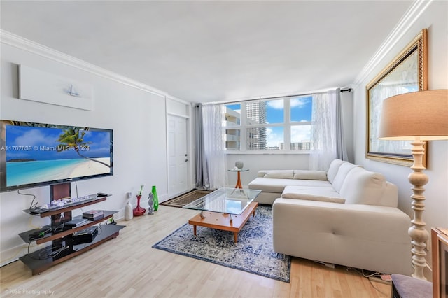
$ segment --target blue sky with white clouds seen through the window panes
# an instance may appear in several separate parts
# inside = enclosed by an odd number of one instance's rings
[[[267,101],[266,107],[266,122],[267,123],[283,123],[284,122],[284,108],[283,99],[275,99]],[[293,97],[291,99],[290,111],[291,122],[311,121],[311,96]],[[239,104],[228,105],[228,108],[240,112],[241,106]],[[309,141],[310,136],[309,125],[293,125],[291,126],[291,142],[297,143],[302,141]],[[283,127],[267,127],[266,129],[267,146],[279,146],[283,142]]]

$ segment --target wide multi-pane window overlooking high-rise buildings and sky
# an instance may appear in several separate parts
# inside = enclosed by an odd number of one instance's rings
[[[225,105],[227,150],[309,150],[311,104],[309,95]]]

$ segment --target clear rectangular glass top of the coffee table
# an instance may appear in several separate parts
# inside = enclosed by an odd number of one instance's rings
[[[240,215],[260,192],[223,187],[182,208]]]

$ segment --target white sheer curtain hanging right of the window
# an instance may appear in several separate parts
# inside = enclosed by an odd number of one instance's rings
[[[337,158],[336,90],[313,94],[309,169],[326,171]]]

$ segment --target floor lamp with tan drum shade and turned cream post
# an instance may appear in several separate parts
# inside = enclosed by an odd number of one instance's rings
[[[412,140],[414,164],[409,174],[412,187],[412,209],[414,219],[409,228],[412,241],[412,277],[426,280],[426,241],[428,232],[423,221],[425,210],[423,188],[428,176],[423,173],[423,141],[448,139],[448,90],[427,90],[409,92],[384,99],[379,125],[379,139]],[[437,160],[434,158],[434,160]]]

